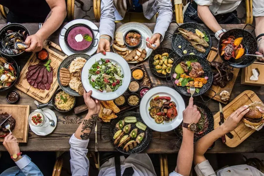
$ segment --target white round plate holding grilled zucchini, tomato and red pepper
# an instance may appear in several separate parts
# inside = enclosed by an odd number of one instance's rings
[[[156,123],[152,117],[149,115],[148,108],[150,107],[150,100],[156,96],[169,96],[171,97],[171,101],[176,103],[176,109],[178,115],[169,122],[163,123]],[[144,123],[154,131],[159,132],[167,132],[172,131],[177,128],[180,123],[182,123],[183,115],[182,112],[185,110],[185,102],[182,99],[182,96],[175,90],[170,87],[166,86],[158,86],[150,89],[141,99],[139,111],[141,118],[143,119]]]

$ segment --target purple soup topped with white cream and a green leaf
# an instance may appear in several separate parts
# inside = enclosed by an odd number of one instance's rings
[[[79,41],[81,40],[80,37],[81,35],[84,36],[85,34],[88,34],[91,38],[93,37],[92,35],[92,31],[90,31],[88,28],[85,28],[83,26],[78,26],[76,28],[73,28],[70,32],[69,32],[69,35],[67,37],[67,41],[68,41],[68,44],[70,45],[70,47],[74,50],[77,50],[77,51],[82,51],[82,50],[86,50],[87,48],[90,47],[90,45],[92,45],[92,41],[87,41],[85,40],[84,38],[82,39],[82,41]],[[75,37],[76,35],[78,35],[78,41],[76,41]]]

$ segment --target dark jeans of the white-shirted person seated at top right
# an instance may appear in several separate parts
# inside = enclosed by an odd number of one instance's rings
[[[226,14],[219,14],[214,17],[219,24],[239,24],[236,10]],[[197,9],[194,9],[191,3],[188,5],[184,13],[184,23],[189,22],[204,24],[198,16]]]

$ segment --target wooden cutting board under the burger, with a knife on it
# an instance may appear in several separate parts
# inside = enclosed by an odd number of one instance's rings
[[[239,94],[233,101],[227,104],[224,108],[224,119],[226,120],[230,114],[232,114],[236,109],[241,106],[251,104],[255,101],[260,101],[259,97],[255,94],[255,92],[251,90],[246,90]],[[220,112],[217,112],[214,115],[214,129],[219,127],[220,122]],[[243,121],[240,121],[238,127],[234,131],[231,131],[233,138],[230,139],[226,136],[226,145],[229,147],[236,147],[241,142],[243,142],[248,136],[254,133],[255,130],[245,125]]]

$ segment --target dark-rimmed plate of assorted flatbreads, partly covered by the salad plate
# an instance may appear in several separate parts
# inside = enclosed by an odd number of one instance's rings
[[[72,96],[82,96],[82,68],[91,56],[82,53],[66,57],[60,64],[57,79],[62,90]]]

